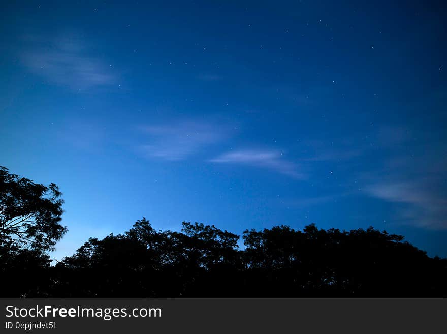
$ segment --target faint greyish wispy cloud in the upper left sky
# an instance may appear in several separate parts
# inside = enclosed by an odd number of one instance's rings
[[[110,66],[91,56],[80,39],[30,38],[26,42],[30,48],[22,54],[24,64],[51,83],[86,89],[115,82]]]

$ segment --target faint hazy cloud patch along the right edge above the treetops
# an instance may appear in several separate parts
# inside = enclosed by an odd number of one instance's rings
[[[443,144],[429,133],[404,125],[380,126],[375,140],[384,155],[375,170],[359,177],[366,193],[392,203],[405,224],[447,229],[443,189],[447,163],[439,154]]]

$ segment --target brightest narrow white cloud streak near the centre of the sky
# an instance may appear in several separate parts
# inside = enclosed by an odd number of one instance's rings
[[[282,153],[276,150],[236,150],[222,154],[210,161],[268,168],[297,179],[305,178],[296,164],[285,160]]]

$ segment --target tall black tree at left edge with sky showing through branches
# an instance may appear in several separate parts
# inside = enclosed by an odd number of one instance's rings
[[[0,276],[2,296],[45,296],[48,251],[67,231],[60,225],[61,193],[0,166]]]

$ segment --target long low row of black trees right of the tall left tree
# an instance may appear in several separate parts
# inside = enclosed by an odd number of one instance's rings
[[[183,222],[181,232],[137,221],[124,234],[89,239],[55,267],[56,296],[443,296],[447,262],[400,235],[371,228],[246,230]],[[83,278],[88,277],[88,280]],[[50,289],[51,290],[51,289]]]

